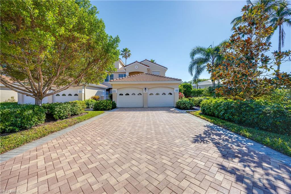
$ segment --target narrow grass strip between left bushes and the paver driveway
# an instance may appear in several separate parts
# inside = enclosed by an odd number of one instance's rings
[[[1,136],[0,153],[2,154],[6,151],[17,148],[26,143],[32,142],[33,140],[45,137],[50,133],[54,133],[56,131],[62,130],[64,128],[70,127],[74,124],[88,120],[92,117],[104,113],[103,111],[85,111],[85,112],[87,112],[88,114],[81,115],[79,117],[63,119],[61,121],[56,121],[47,125],[37,126],[31,129],[11,133],[6,136]]]

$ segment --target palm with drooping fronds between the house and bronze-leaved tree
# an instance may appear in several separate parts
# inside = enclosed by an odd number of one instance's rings
[[[188,67],[188,71],[191,76],[194,75],[193,81],[196,82],[201,75],[201,73],[205,70],[207,63],[210,63],[212,66],[220,64],[223,61],[223,57],[219,53],[221,45],[224,43],[220,43],[219,45],[213,46],[210,45],[208,48],[196,46],[190,52],[191,62]],[[215,85],[215,81],[212,82],[212,86]]]

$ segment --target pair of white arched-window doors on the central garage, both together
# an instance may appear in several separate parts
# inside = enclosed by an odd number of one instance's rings
[[[143,93],[140,88],[121,88],[117,90],[118,107],[143,107],[143,95],[148,95],[148,107],[173,107],[174,89],[155,87]]]

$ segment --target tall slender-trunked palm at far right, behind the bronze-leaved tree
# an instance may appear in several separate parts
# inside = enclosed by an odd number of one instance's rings
[[[283,29],[283,24],[287,24],[291,26],[291,9],[288,8],[290,4],[285,3],[284,5],[280,5],[277,7],[276,11],[271,14],[270,22],[274,27],[274,31],[279,27],[279,45],[278,51],[281,52],[281,48],[284,46],[285,40],[285,31]],[[268,37],[268,40],[271,38],[273,34]],[[277,70],[280,70],[280,64],[278,65]]]

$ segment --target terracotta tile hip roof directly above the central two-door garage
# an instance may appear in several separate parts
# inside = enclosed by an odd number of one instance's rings
[[[166,77],[162,75],[154,75],[150,73],[141,73],[131,75],[127,77],[117,78],[110,80],[109,82],[171,82],[171,81],[182,81],[181,79]]]

